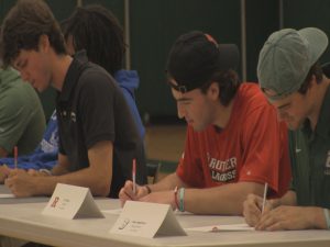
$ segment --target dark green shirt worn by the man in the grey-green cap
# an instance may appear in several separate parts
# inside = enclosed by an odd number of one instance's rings
[[[315,132],[306,121],[299,131],[289,132],[289,144],[298,205],[330,209],[330,88]]]

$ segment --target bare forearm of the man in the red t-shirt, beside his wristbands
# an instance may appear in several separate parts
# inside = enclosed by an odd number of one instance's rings
[[[210,189],[187,189],[185,210],[196,214],[241,215],[249,193],[260,197],[264,187],[254,182],[238,182]]]

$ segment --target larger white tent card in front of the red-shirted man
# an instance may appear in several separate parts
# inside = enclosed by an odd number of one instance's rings
[[[146,238],[186,235],[170,205],[136,201],[125,202],[110,233]]]

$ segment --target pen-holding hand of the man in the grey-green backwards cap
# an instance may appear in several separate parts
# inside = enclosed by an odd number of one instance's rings
[[[243,203],[243,215],[245,217],[245,222],[250,226],[255,226],[262,216],[262,206],[263,206],[263,198],[255,195],[255,194],[249,194],[246,200]],[[273,200],[266,201],[264,213],[270,212],[274,205]]]

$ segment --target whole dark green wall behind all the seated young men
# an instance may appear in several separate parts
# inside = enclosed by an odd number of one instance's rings
[[[14,0],[0,0],[0,20]],[[124,0],[47,0],[61,21],[78,2],[100,3],[124,24]],[[246,0],[246,79],[256,81],[258,50],[279,29],[279,0]],[[167,53],[175,38],[191,30],[212,34],[220,43],[241,46],[241,0],[130,0],[131,67],[141,77],[136,101],[141,115],[152,119],[176,115],[175,102],[165,85]],[[317,26],[330,34],[329,0],[283,0],[284,27]],[[329,60],[329,50],[322,60]],[[54,90],[41,94],[46,115],[54,109]]]

